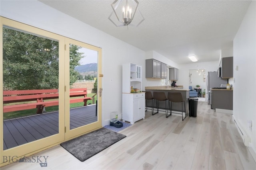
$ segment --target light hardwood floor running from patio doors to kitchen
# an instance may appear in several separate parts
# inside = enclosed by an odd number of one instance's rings
[[[217,113],[198,102],[197,117],[151,115],[120,131],[127,137],[80,162],[61,146],[34,156],[48,156],[47,167],[18,162],[1,170],[255,170],[250,152],[232,122],[232,115]],[[29,156],[32,157],[32,156]]]

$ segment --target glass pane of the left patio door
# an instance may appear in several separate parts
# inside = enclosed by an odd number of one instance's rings
[[[3,28],[4,150],[59,133],[59,43]]]

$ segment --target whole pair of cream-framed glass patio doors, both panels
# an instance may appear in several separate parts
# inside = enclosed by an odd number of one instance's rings
[[[3,17],[0,22],[0,166],[100,128],[101,49]],[[94,94],[86,83],[74,86],[85,79],[77,67],[90,62],[89,53],[96,61]],[[85,88],[86,96],[71,95]],[[80,98],[89,99],[77,103]]]

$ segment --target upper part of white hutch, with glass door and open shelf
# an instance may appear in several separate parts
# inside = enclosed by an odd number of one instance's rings
[[[122,92],[130,93],[132,88],[142,89],[142,66],[138,64],[123,64]]]

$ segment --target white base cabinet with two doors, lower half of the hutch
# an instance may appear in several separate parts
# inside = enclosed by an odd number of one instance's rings
[[[145,93],[122,94],[122,120],[131,124],[145,119]]]

